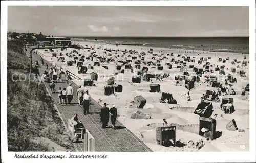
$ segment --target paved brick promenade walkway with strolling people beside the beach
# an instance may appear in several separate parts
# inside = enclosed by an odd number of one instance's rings
[[[27,53],[30,53],[31,48],[28,48]],[[32,55],[32,62],[35,60],[40,61],[40,56],[37,54]],[[45,63],[51,65],[48,61]],[[49,66],[50,67],[50,66]],[[45,71],[46,67],[39,67],[40,75]],[[74,90],[74,98],[71,105],[61,106],[58,103],[58,94],[52,94],[54,103],[56,104],[63,121],[68,126],[68,119],[75,113],[78,114],[78,119],[82,121],[84,127],[88,129],[95,138],[95,151],[96,152],[152,152],[138,137],[136,137],[130,130],[125,128],[118,120],[116,121],[117,129],[112,128],[103,129],[100,122],[100,109],[101,106],[98,102],[92,99],[92,105],[89,110],[90,114],[83,115],[83,107],[78,105],[78,97],[76,91],[78,86],[71,82]],[[47,89],[50,90],[49,83],[45,83]],[[66,88],[68,83],[56,83],[56,91],[59,87]],[[90,92],[89,92],[90,93]],[[109,122],[110,126],[111,122]],[[83,143],[75,144],[78,151],[83,151]]]

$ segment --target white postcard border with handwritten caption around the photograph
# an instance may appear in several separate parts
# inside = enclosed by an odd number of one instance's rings
[[[67,159],[71,152],[45,152],[66,155],[66,159],[17,159],[17,152],[7,149],[7,7],[8,6],[249,6],[249,54],[250,54],[250,149],[249,152],[93,152],[107,158]],[[239,11],[238,11],[239,12]],[[2,162],[255,162],[255,1],[1,1],[1,147]],[[19,154],[42,154],[43,152],[19,152]],[[78,153],[76,153],[78,154]],[[80,153],[82,154],[82,153]]]

